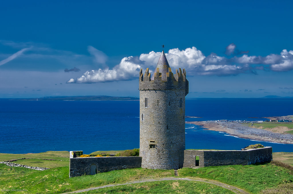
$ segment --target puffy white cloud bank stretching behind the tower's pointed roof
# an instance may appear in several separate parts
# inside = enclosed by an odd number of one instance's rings
[[[95,56],[103,56],[102,51],[89,46],[88,51]],[[293,69],[293,51],[283,50],[281,55],[270,54],[268,56],[249,56],[248,51],[239,51],[234,43],[227,46],[226,51],[231,54],[240,54],[242,56],[233,56],[227,58],[211,53],[205,56],[196,47],[180,50],[178,48],[170,49],[166,52],[166,58],[172,71],[185,68],[188,75],[217,75],[229,76],[241,73],[254,73],[257,70],[265,69],[265,65],[270,65],[273,71],[288,71]],[[151,51],[142,53],[139,57],[124,57],[121,62],[113,68],[86,71],[81,77],[71,78],[67,83],[95,83],[95,82],[113,82],[119,80],[130,80],[138,77],[140,68],[144,70],[149,67],[152,73],[159,60],[161,52]],[[107,57],[103,58],[104,62]],[[97,58],[96,58],[97,59]],[[97,60],[96,60],[97,62]]]

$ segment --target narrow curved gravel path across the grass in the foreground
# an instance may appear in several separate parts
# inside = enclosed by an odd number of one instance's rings
[[[217,182],[217,181],[200,179],[200,178],[178,178],[178,177],[166,177],[166,178],[162,178],[162,179],[145,179],[145,180],[132,181],[132,182],[128,182],[128,183],[110,184],[110,185],[91,187],[91,188],[87,188],[87,189],[81,189],[81,190],[76,190],[76,191],[71,191],[71,192],[61,193],[61,194],[81,193],[81,192],[85,192],[85,191],[89,191],[89,190],[96,190],[99,188],[114,187],[114,186],[119,186],[119,185],[129,185],[129,184],[134,184],[134,183],[145,183],[145,182],[153,182],[153,181],[178,181],[178,180],[180,180],[180,181],[200,181],[200,182],[205,182],[205,183],[209,183],[209,184],[213,184],[213,185],[217,185],[217,186],[226,188],[226,189],[231,190],[232,192],[237,193],[237,194],[249,194],[245,190],[242,190],[240,188],[237,188],[237,187],[225,184],[225,183]]]

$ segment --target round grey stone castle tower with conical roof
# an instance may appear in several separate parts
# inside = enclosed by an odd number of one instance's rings
[[[139,156],[142,168],[183,167],[185,150],[186,72],[173,74],[162,51],[154,75],[139,72]]]

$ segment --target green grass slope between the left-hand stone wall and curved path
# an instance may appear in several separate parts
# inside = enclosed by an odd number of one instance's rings
[[[174,176],[173,170],[125,169],[96,175],[69,179],[69,167],[58,167],[44,171],[0,164],[0,193],[2,189],[26,189],[27,193],[64,193],[89,187],[113,183],[124,183],[137,179]],[[12,191],[11,193],[19,193]]]

